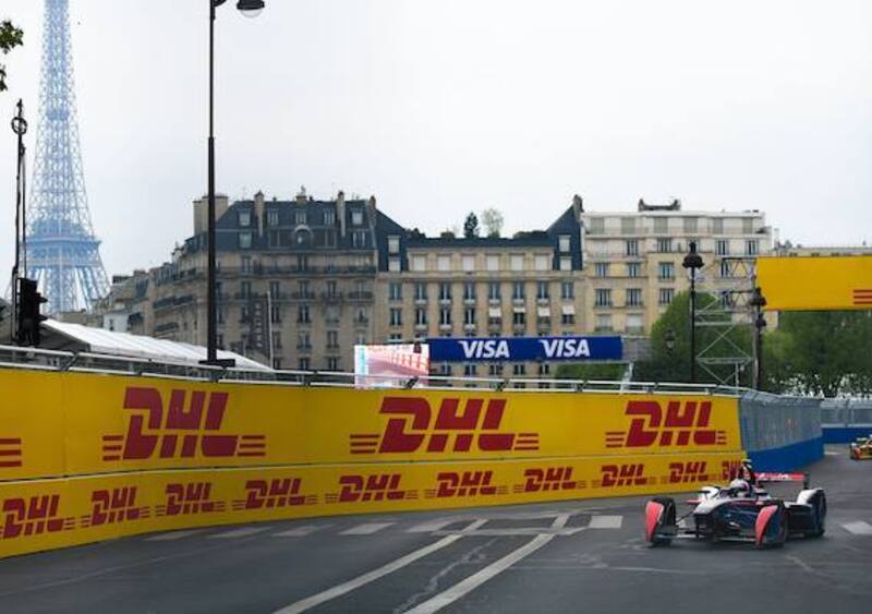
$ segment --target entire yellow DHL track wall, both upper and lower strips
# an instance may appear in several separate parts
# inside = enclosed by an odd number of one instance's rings
[[[687,491],[714,395],[350,389],[0,370],[0,556],[286,518]]]

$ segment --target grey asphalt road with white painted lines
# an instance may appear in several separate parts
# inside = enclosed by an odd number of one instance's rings
[[[650,549],[645,497],[317,518],[0,561],[0,612],[867,612],[872,461],[827,452],[826,534],[778,550]]]

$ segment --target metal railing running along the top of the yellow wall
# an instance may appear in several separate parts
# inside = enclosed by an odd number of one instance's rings
[[[744,388],[716,384],[452,375],[428,375],[419,378],[391,375],[355,375],[354,373],[339,371],[225,369],[169,359],[155,360],[16,346],[0,346],[0,369],[109,373],[292,386],[491,389],[528,393],[668,393],[670,395],[722,395],[731,397],[739,397],[748,392]]]

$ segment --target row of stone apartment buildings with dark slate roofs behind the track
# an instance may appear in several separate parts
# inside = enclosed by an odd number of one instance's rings
[[[426,237],[374,197],[217,200],[218,345],[279,369],[353,370],[353,346],[427,337],[645,335],[687,289],[695,240],[703,279],[727,288],[730,264],[768,253],[759,212],[682,212],[640,201],[584,212],[510,238]],[[206,344],[206,198],[172,260],[117,279],[95,324]],[[712,291],[711,289],[708,291]],[[434,365],[479,376],[548,376],[547,363]]]

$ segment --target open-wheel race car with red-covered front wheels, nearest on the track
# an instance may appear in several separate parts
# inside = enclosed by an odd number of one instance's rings
[[[802,482],[795,502],[772,497],[762,487],[771,482]],[[645,539],[654,546],[676,538],[753,542],[780,546],[790,537],[824,534],[826,496],[810,489],[808,473],[758,473],[756,485],[734,480],[729,486],[704,486],[687,503],[692,509],[677,517],[675,499],[654,497],[645,506]]]

